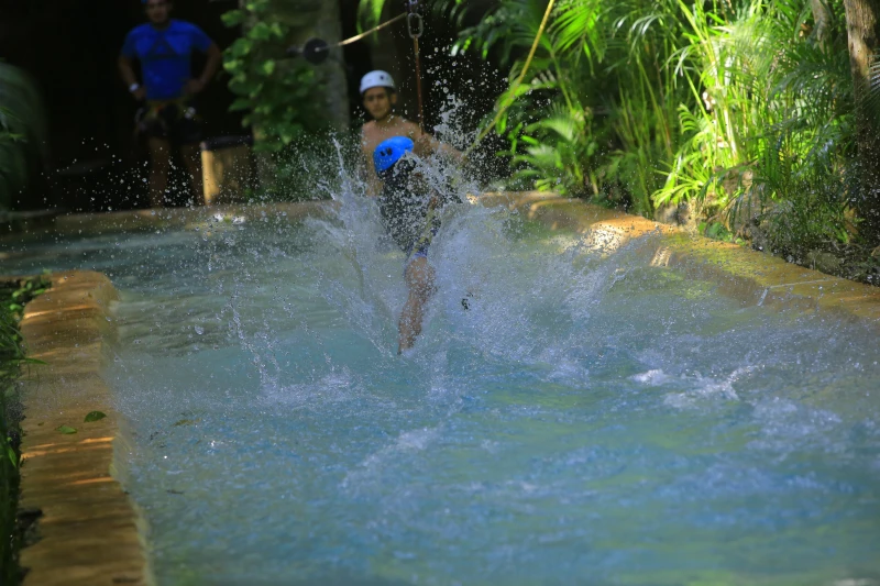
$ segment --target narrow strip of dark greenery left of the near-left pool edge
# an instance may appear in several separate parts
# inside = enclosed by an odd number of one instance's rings
[[[19,493],[15,379],[24,356],[19,320],[24,303],[48,288],[44,277],[0,283],[0,583],[18,584],[15,508]],[[33,361],[31,361],[33,362]]]

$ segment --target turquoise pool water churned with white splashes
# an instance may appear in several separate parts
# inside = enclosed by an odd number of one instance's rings
[[[370,213],[12,251],[121,292],[158,584],[880,584],[875,330],[474,208],[397,356]]]

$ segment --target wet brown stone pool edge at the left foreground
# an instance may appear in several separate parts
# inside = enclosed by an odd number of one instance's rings
[[[100,376],[116,338],[109,306],[118,295],[100,273],[50,278],[52,288],[25,307],[21,322],[28,356],[45,363],[22,377],[19,510],[40,511],[36,541],[21,550],[23,584],[148,586],[144,521],[113,472],[123,421]],[[91,411],[107,417],[87,423]]]

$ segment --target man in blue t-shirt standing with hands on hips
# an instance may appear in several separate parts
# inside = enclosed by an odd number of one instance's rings
[[[193,202],[205,203],[201,186],[201,158],[198,143],[201,129],[193,107],[199,93],[220,67],[220,48],[205,32],[185,21],[170,18],[170,0],[141,0],[147,23],[134,27],[119,55],[119,71],[135,100],[146,100],[139,118],[139,131],[148,139],[150,204],[166,201],[172,147],[178,147],[193,189]],[[205,70],[191,75],[193,49],[208,56]],[[134,60],[141,64],[141,78]]]

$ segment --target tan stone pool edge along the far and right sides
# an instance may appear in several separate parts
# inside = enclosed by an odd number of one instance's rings
[[[721,292],[745,305],[831,310],[880,325],[880,287],[825,275],[745,246],[553,192],[498,191],[469,199],[487,207],[519,210],[551,230],[585,235],[594,248],[608,252],[625,245],[637,248],[646,263],[674,267],[690,277],[717,283]],[[85,235],[123,230],[201,229],[217,221],[296,221],[324,215],[337,206],[339,202],[332,200],[315,200],[70,214],[59,217],[51,232]]]

